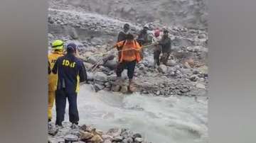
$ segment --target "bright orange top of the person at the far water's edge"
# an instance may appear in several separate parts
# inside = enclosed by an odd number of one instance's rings
[[[142,60],[142,57],[140,56],[139,50],[142,49],[142,46],[139,45],[139,43],[136,40],[133,40],[132,42],[128,42],[127,40],[117,42],[114,47],[117,47],[117,50],[122,50],[119,52],[119,62],[122,61],[134,61],[137,62]]]

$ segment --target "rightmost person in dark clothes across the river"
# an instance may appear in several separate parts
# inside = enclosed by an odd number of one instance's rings
[[[171,54],[171,38],[169,38],[169,31],[164,30],[163,38],[159,41],[161,46],[162,56],[160,62],[166,64],[168,62],[169,56]]]

